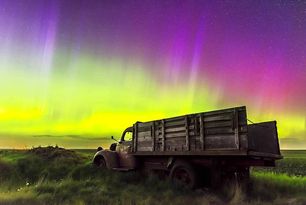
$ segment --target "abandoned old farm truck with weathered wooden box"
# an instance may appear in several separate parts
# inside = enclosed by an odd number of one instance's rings
[[[250,166],[274,167],[283,158],[276,121],[247,120],[241,106],[136,122],[109,150],[99,147],[94,163],[117,171],[169,171],[171,179],[192,189],[201,181],[216,187],[227,177],[247,180]]]

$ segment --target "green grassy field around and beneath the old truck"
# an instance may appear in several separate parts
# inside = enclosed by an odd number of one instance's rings
[[[97,169],[95,151],[0,150],[0,204],[306,203],[306,150],[282,150],[275,168],[252,167],[248,184],[193,192],[154,174]]]

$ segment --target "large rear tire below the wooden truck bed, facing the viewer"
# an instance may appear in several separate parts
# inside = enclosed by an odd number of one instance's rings
[[[197,186],[196,169],[186,161],[177,161],[172,166],[170,178],[177,185],[190,189],[195,189]]]

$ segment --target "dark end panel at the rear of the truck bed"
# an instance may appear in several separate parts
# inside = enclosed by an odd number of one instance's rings
[[[280,155],[276,121],[248,124],[248,149]]]

